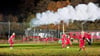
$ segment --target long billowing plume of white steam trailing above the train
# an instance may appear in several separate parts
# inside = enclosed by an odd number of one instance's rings
[[[75,8],[68,5],[64,8],[59,8],[57,12],[48,10],[37,13],[36,18],[31,20],[30,25],[59,24],[61,20],[68,24],[70,20],[94,21],[96,19],[100,19],[100,7],[90,2],[88,4],[79,4]]]

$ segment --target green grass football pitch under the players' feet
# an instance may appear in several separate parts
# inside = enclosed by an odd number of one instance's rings
[[[79,51],[78,44],[62,48],[61,44],[0,44],[0,56],[100,56],[100,43],[86,45],[86,52]]]

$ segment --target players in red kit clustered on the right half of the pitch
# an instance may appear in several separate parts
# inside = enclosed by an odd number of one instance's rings
[[[66,34],[66,33],[62,34],[62,38],[61,38],[62,48],[65,48],[68,45],[72,46],[71,38],[72,37],[70,36],[70,34]],[[81,51],[81,50],[85,51],[85,42],[86,41],[88,42],[89,45],[91,45],[91,34],[90,33],[86,33],[84,31],[82,31],[80,33],[80,35],[77,37],[77,39],[79,40],[79,48],[80,48],[79,51]]]

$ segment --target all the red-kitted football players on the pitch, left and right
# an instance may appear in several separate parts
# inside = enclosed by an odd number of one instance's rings
[[[8,42],[10,44],[11,49],[13,48],[13,44],[14,44],[13,39],[14,38],[15,38],[15,33],[13,33],[11,35],[11,37],[8,39]],[[82,31],[80,33],[80,35],[77,37],[77,39],[79,40],[79,47],[80,47],[79,51],[80,50],[85,50],[85,40],[87,40],[88,44],[91,45],[91,35],[90,35],[90,33],[85,33],[84,31]],[[68,45],[72,46],[70,34],[66,35],[65,33],[63,33],[61,41],[62,41],[62,48],[65,48]]]

